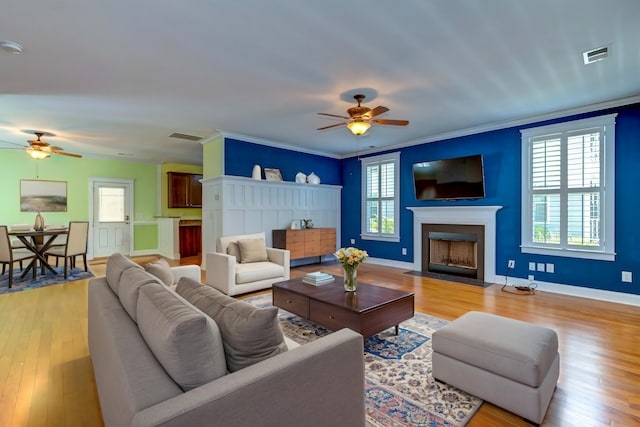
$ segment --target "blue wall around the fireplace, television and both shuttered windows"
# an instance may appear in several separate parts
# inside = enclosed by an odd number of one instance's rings
[[[520,130],[551,123],[618,113],[616,118],[616,261],[592,261],[520,253]],[[581,114],[563,119],[533,123],[492,132],[432,142],[400,150],[400,242],[360,240],[360,162],[356,158],[342,162],[342,241],[356,239],[356,246],[370,256],[413,262],[413,218],[408,206],[504,206],[497,216],[496,272],[506,273],[509,259],[516,260],[510,276],[640,294],[640,215],[636,188],[640,184],[640,104]],[[381,154],[381,153],[376,153]],[[481,200],[416,201],[411,166],[425,160],[482,154],[487,197]],[[355,178],[355,179],[354,179]],[[402,255],[407,248],[407,255]],[[529,262],[553,263],[555,273],[529,272]],[[622,283],[623,270],[634,272],[633,283]]]

